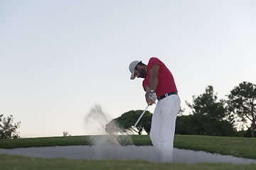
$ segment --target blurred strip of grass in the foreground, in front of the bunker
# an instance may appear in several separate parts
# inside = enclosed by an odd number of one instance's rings
[[[256,169],[256,164],[235,165],[235,164],[156,164],[139,160],[93,160],[84,159],[39,159],[32,157],[13,156],[8,154],[0,155],[1,170],[9,169],[111,169],[111,170],[151,170],[151,169],[172,169],[172,170],[243,170]]]

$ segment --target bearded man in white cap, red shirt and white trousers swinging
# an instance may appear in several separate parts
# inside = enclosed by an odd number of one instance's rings
[[[151,120],[150,139],[161,162],[172,162],[174,151],[174,132],[176,116],[181,101],[178,96],[174,77],[156,57],[151,57],[146,65],[139,61],[129,64],[130,79],[143,78],[142,86],[146,91],[146,103],[156,103]]]

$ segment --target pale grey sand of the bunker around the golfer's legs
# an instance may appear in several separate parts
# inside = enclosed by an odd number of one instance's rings
[[[154,147],[134,146],[125,147],[102,146],[68,146],[68,147],[30,147],[18,149],[0,149],[0,154],[16,154],[40,158],[67,158],[67,159],[141,159],[149,162],[159,162],[154,154]],[[196,164],[200,162],[228,162],[232,164],[256,164],[255,159],[242,159],[220,154],[194,152],[174,148],[174,162]]]

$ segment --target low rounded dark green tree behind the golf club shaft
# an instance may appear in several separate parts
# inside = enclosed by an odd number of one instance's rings
[[[111,127],[113,124],[117,123],[125,130],[132,130],[132,126],[134,125],[134,123],[136,123],[142,112],[142,110],[128,111],[127,113],[122,114],[120,117],[111,120],[110,123],[106,125],[106,129],[108,127]],[[152,115],[152,113],[146,111],[142,116],[142,119],[139,120],[139,123],[136,126],[137,130],[136,128],[134,128],[134,132],[137,132],[139,135],[142,135],[142,130],[144,129],[149,134],[151,128]]]

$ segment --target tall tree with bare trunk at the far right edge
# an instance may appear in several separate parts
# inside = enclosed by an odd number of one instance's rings
[[[238,115],[244,123],[250,120],[251,134],[255,137],[256,120],[256,85],[243,81],[230,91],[228,95],[228,108],[230,113]]]

